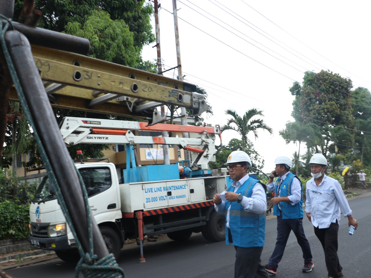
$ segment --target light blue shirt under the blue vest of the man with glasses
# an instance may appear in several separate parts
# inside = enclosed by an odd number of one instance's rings
[[[234,181],[232,186],[234,187],[233,192],[236,192],[239,187],[249,178],[249,175],[244,175],[239,181]],[[267,211],[267,198],[264,187],[256,183],[253,188],[253,193],[250,198],[243,196],[241,205],[243,205],[245,211],[253,212],[255,214],[262,214]],[[224,214],[226,210],[226,203],[221,201],[219,205],[214,204],[215,211]],[[229,211],[230,206],[227,208],[227,227],[229,227]]]

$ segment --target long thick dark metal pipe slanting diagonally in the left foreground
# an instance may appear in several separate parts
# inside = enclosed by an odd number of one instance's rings
[[[18,31],[6,32],[5,40],[29,105],[35,125],[33,128],[45,148],[67,209],[73,212],[70,216],[82,248],[84,252],[89,252],[86,206],[79,178],[60,136],[58,123],[32,56],[31,46],[26,36]],[[101,259],[108,255],[108,250],[93,217],[91,223],[94,251],[98,259]]]

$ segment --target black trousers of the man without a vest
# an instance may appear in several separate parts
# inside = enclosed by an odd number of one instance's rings
[[[338,231],[339,224],[331,223],[328,228],[319,229],[314,227],[314,234],[317,236],[325,251],[325,262],[328,276],[339,277],[339,272],[343,269],[338,258]]]

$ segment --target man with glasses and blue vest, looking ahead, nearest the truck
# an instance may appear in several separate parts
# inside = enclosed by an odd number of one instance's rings
[[[251,167],[247,153],[232,152],[224,165],[229,165],[233,183],[226,192],[215,194],[213,202],[217,212],[226,214],[226,244],[233,242],[236,249],[234,278],[268,278],[260,264],[267,210],[265,188],[247,175]]]

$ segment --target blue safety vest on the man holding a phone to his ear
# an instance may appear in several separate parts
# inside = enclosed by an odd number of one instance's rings
[[[296,177],[293,173],[288,173],[285,180],[282,182],[280,187],[280,197],[287,197],[291,195],[292,181]],[[297,177],[296,177],[297,178]],[[276,180],[275,196],[278,197],[278,187],[281,177]],[[299,179],[299,178],[298,178]],[[280,202],[279,205],[282,211],[282,219],[298,219],[303,218],[303,185],[299,179],[301,186],[301,199],[295,205],[288,202]],[[273,207],[273,215],[280,215],[278,204]]]

